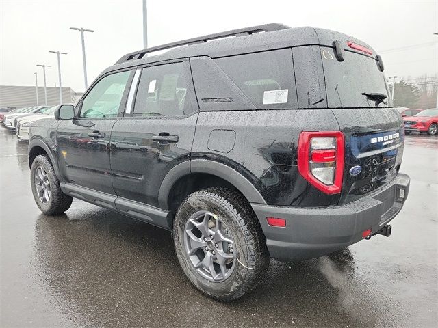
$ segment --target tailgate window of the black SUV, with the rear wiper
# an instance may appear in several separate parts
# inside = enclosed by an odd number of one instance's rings
[[[388,107],[391,105],[385,77],[378,69],[376,59],[352,51],[344,51],[344,55],[344,61],[337,61],[332,48],[321,47],[329,107]],[[378,103],[363,93],[383,94],[387,98]]]

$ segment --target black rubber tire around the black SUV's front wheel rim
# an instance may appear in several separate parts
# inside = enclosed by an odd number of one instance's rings
[[[40,195],[38,195],[36,187],[36,174],[37,169],[42,167],[44,173],[47,174],[47,187],[50,190],[49,200],[40,200]],[[64,213],[71,206],[73,197],[70,197],[62,192],[60,188],[60,180],[57,179],[53,165],[51,164],[49,157],[47,155],[38,155],[34,159],[31,165],[31,189],[34,195],[34,200],[41,212],[47,215],[57,215]]]

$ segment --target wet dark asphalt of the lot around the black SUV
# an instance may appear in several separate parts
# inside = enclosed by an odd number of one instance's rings
[[[407,204],[389,238],[271,261],[257,290],[220,303],[192,288],[170,233],[74,200],[47,217],[27,144],[0,128],[0,327],[437,327],[438,137],[409,135]]]

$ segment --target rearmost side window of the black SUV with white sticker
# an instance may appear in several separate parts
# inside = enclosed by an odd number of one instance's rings
[[[215,60],[258,109],[297,107],[291,49]]]

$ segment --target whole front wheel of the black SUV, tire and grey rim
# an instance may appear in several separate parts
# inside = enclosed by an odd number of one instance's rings
[[[41,212],[47,215],[64,213],[70,208],[73,197],[62,192],[53,165],[47,155],[35,157],[30,169],[34,200]]]

